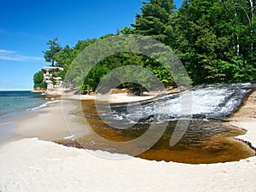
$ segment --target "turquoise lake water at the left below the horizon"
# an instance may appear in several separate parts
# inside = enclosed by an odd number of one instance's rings
[[[47,102],[40,93],[0,91],[0,123]]]

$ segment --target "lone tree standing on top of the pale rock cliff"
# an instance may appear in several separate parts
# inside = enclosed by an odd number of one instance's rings
[[[49,42],[46,43],[47,45],[49,45],[49,50],[44,50],[43,51],[45,61],[50,62],[52,67],[55,66],[55,61],[56,61],[55,56],[56,56],[56,54],[61,51],[61,46],[57,41],[58,41],[58,38],[54,38],[53,40],[49,40]]]

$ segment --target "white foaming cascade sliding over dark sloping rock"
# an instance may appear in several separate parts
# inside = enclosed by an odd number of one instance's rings
[[[158,122],[177,119],[222,119],[234,113],[255,84],[214,84],[195,87],[180,94],[160,96],[153,100],[115,105],[101,118],[119,124],[150,123],[156,114]],[[122,125],[119,125],[121,128]]]

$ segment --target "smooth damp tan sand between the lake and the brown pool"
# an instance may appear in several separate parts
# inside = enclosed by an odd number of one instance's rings
[[[60,104],[60,100],[47,101],[38,107],[29,108],[19,115],[5,119],[3,125],[11,125],[11,127],[6,126],[6,128],[3,127],[0,130],[5,133],[3,137],[8,137],[0,140],[0,147],[24,138],[38,137],[46,141],[54,141],[55,139],[66,136],[67,131],[63,134],[63,131],[61,131],[62,127],[55,131],[51,130],[54,124],[50,122],[54,122],[53,120],[55,118],[60,120],[59,122],[64,122],[64,119],[61,119],[61,116],[58,115],[58,113],[62,113]],[[64,124],[63,127],[65,128]],[[49,133],[44,131],[48,131]]]

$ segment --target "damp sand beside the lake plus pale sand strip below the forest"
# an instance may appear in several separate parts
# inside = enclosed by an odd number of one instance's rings
[[[36,108],[27,109],[27,112],[32,113],[23,113],[20,114],[20,116],[9,119],[9,123],[12,124],[12,129],[4,130],[8,133],[6,136],[8,136],[9,139],[5,139],[2,143],[0,143],[0,147],[3,144],[18,141],[24,138],[37,137],[38,139],[53,142],[65,137],[73,137],[65,123],[63,108],[61,106],[61,96],[53,97],[56,99],[50,100],[49,97],[48,102],[45,102]],[[68,98],[65,97],[65,99],[73,101],[90,101],[97,99],[99,102],[118,104],[146,101],[153,97],[154,96],[125,96],[122,94],[113,94],[110,96],[73,95],[69,96]]]

